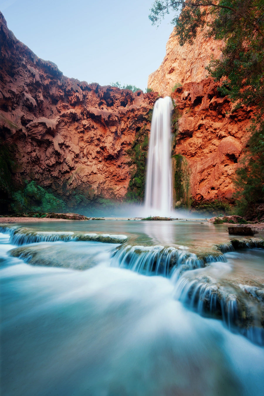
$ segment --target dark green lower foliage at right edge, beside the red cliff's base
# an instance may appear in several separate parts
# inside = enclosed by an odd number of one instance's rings
[[[239,214],[259,219],[259,205],[264,203],[264,122],[255,127],[242,165],[234,178]]]

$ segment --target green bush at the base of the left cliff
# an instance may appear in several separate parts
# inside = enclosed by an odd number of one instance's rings
[[[14,212],[64,212],[65,202],[46,191],[35,181],[26,181],[25,188],[12,194],[11,211]]]

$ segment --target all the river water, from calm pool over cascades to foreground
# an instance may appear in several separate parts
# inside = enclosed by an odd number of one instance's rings
[[[122,246],[80,242],[66,234],[64,240],[28,245],[24,239],[17,247],[12,236],[0,234],[3,395],[263,394],[264,348],[258,345],[262,335],[254,333],[259,324],[247,334],[231,317],[219,317],[239,312],[237,290],[242,295],[246,287],[248,309],[256,310],[251,325],[258,318],[262,306],[253,302],[261,300],[261,289],[252,282],[263,280],[263,251],[230,251],[222,261],[206,263],[187,248],[196,234],[207,242],[210,236],[228,241],[223,226],[166,222],[169,230],[163,232],[162,225],[146,223],[33,225],[53,234],[125,233],[130,239]],[[163,248],[168,235],[174,246]],[[12,257],[14,248],[31,253]],[[34,251],[46,252],[46,265],[54,261],[69,268],[44,267]],[[87,269],[73,270],[72,263]],[[234,288],[232,297],[220,302],[229,310],[221,303],[219,308],[214,294],[216,288],[224,294],[226,287]],[[217,319],[210,318],[213,310]]]

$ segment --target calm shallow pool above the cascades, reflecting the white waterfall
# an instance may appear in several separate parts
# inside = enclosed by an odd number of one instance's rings
[[[208,242],[229,240],[226,225],[201,224],[200,221],[56,221],[23,223],[22,227],[38,231],[87,231],[110,234],[133,234],[137,243],[207,246]]]

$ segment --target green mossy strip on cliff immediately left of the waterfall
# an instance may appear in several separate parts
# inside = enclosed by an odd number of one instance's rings
[[[151,114],[150,114],[151,116]],[[146,181],[146,159],[148,154],[148,131],[146,126],[139,129],[131,148],[127,150],[131,161],[128,165],[134,168],[127,188],[128,202],[143,202]]]

